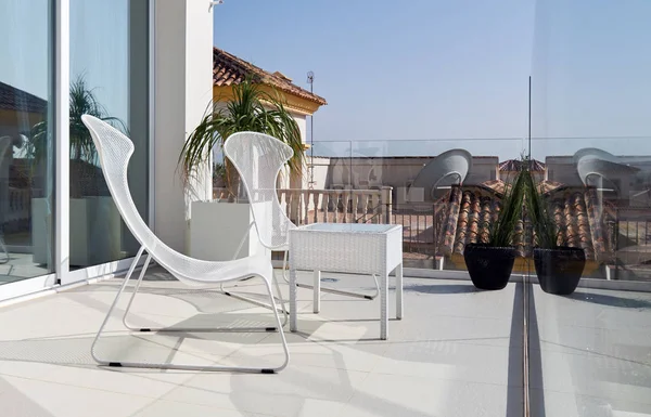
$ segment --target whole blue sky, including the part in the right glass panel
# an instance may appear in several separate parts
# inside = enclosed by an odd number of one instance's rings
[[[459,140],[525,138],[533,75],[534,136],[591,138],[534,156],[651,142],[616,140],[651,135],[649,0],[225,0],[214,19],[217,47],[302,87],[315,71],[316,141],[515,157],[522,141]]]

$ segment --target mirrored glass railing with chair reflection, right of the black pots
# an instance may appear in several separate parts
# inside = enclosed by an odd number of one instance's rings
[[[534,139],[558,243],[585,250],[583,276],[651,281],[651,138]]]

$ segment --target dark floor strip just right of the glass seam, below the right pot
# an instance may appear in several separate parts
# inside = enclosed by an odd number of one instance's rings
[[[529,284],[531,285],[531,284]],[[531,288],[531,287],[529,287]],[[545,390],[542,379],[542,347],[538,329],[538,314],[534,292],[528,295],[528,395],[532,417],[545,417]],[[538,387],[538,389],[533,388]]]

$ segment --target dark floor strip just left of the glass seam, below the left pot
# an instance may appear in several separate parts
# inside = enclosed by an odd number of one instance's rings
[[[523,339],[524,326],[524,284],[515,284],[515,295],[513,296],[513,310],[511,314],[511,331],[509,338],[511,340]],[[509,349],[509,370],[508,381],[509,387],[522,387],[524,378],[524,353],[523,349]],[[507,391],[507,417],[521,417],[523,415],[524,390],[509,389]]]

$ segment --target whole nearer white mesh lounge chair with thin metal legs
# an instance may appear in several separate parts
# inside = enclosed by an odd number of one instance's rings
[[[203,261],[194,258],[187,257],[182,253],[177,252],[167,245],[165,245],[156,235],[149,229],[146,223],[142,220],[129,192],[129,185],[127,181],[127,167],[129,159],[133,154],[133,143],[120,133],[118,130],[107,125],[106,122],[89,116],[84,115],[81,120],[90,130],[93,142],[98,148],[98,155],[104,172],[104,178],[111,191],[111,195],[115,200],[115,205],[119,210],[127,227],[133,234],[133,237],[140,243],[141,247],[124,278],[124,283],[119,288],[113,304],[108,309],[106,317],[102,322],[98,335],[92,343],[91,354],[92,357],[102,365],[108,366],[127,366],[127,367],[148,367],[148,368],[165,368],[165,369],[188,369],[188,370],[227,370],[227,372],[246,372],[246,373],[263,373],[273,374],[282,370],[290,361],[290,352],[288,344],[282,333],[282,325],[278,311],[276,309],[276,302],[271,291],[271,281],[273,276],[273,269],[271,266],[270,259],[266,259],[264,256],[247,257],[233,261],[226,262],[213,262]],[[258,229],[259,230],[259,229]],[[219,231],[216,231],[219,233]],[[95,353],[95,344],[100,339],[102,330],[106,325],[108,317],[111,316],[117,301],[125,290],[133,270],[143,252],[146,251],[146,258],[144,265],[140,271],[138,282],[135,285],[133,294],[129,304],[125,311],[124,323],[125,325],[136,331],[183,331],[183,333],[196,333],[196,331],[278,331],[280,334],[282,348],[284,351],[284,361],[277,367],[241,367],[241,366],[220,366],[220,365],[184,365],[184,364],[170,364],[170,363],[146,363],[146,362],[127,362],[127,361],[107,361],[101,359]],[[267,294],[269,296],[269,304],[272,308],[276,324],[275,327],[264,328],[250,328],[250,327],[226,327],[226,328],[139,328],[130,326],[127,322],[127,314],[133,298],[140,288],[144,273],[149,266],[151,259],[154,259],[161,266],[166,269],[171,275],[179,279],[183,284],[188,285],[206,285],[206,284],[220,284],[228,281],[239,281],[245,277],[259,277],[265,284]]]

